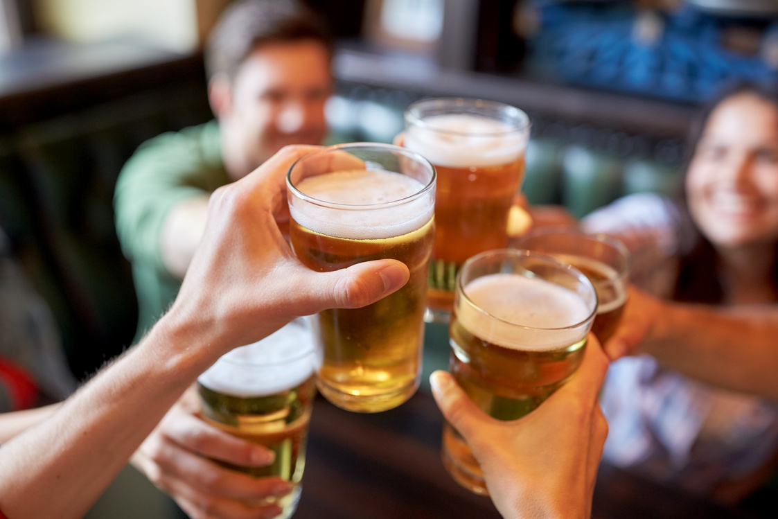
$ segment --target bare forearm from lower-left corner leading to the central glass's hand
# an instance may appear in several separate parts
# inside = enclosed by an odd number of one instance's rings
[[[162,324],[39,426],[0,447],[0,510],[82,517],[167,409],[212,360]],[[40,499],[56,496],[56,499]]]

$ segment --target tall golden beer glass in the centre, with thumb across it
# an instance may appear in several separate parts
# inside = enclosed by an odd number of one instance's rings
[[[303,156],[287,184],[289,238],[304,265],[319,272],[382,258],[408,265],[410,279],[390,296],[313,318],[321,394],[349,411],[397,407],[419,387],[435,170],[405,148],[353,143]]]

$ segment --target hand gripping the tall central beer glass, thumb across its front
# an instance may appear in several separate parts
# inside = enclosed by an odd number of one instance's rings
[[[286,172],[314,149],[287,146],[210,198],[205,235],[163,318],[179,324],[182,341],[208,349],[212,361],[296,317],[326,308],[363,307],[408,281],[408,268],[396,260],[334,272],[314,272],[297,261],[278,221],[288,218]]]

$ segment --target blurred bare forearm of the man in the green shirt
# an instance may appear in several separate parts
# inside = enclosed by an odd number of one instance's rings
[[[174,205],[162,224],[159,237],[162,259],[167,270],[179,279],[184,279],[205,232],[208,199],[202,195]]]

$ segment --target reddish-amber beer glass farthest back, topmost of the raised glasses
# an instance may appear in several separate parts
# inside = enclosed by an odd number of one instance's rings
[[[404,146],[426,156],[438,175],[428,321],[448,322],[467,258],[507,246],[529,132],[527,114],[503,103],[441,98],[405,110]]]

